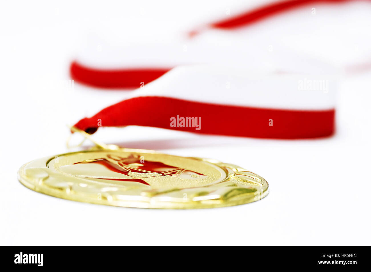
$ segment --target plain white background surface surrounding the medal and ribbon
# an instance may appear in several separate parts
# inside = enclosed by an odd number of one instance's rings
[[[53,198],[17,181],[24,163],[68,151],[67,124],[124,96],[63,86],[89,35],[171,40],[180,30],[225,16],[227,8],[235,14],[254,6],[238,2],[1,1],[1,245],[370,245],[371,71],[341,78],[337,132],[326,139],[260,140],[148,127],[94,135],[105,143],[246,167],[269,182],[270,193],[259,202],[204,210],[117,208]]]

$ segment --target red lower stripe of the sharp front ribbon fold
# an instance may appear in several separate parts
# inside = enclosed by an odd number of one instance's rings
[[[194,119],[187,120],[187,117]],[[273,139],[324,137],[331,136],[335,131],[334,109],[259,109],[157,96],[124,100],[90,118],[80,120],[75,126],[92,134],[100,126],[99,120],[102,121],[101,126],[107,127],[151,126],[204,134]],[[176,126],[171,126],[171,121],[175,121]],[[197,130],[198,127],[200,130]]]

